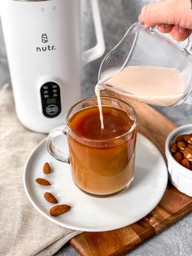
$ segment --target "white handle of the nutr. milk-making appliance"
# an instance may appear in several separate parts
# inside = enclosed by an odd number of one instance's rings
[[[96,45],[82,54],[83,65],[101,57],[105,51],[105,42],[103,37],[102,21],[98,7],[98,0],[90,0],[94,19],[94,30],[96,34]]]

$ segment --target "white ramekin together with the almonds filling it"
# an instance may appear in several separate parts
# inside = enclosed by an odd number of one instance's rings
[[[192,124],[172,130],[166,139],[165,155],[173,186],[192,196]]]

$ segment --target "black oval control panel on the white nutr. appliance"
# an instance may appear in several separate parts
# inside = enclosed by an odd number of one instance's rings
[[[41,106],[44,116],[53,118],[61,113],[60,87],[55,82],[46,82],[41,86]]]

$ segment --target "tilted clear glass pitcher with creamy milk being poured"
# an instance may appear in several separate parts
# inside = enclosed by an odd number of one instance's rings
[[[191,78],[190,39],[179,43],[139,23],[105,56],[98,73],[100,90],[164,107],[188,99]]]

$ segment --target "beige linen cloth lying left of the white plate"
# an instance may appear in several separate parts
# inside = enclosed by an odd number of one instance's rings
[[[41,216],[28,201],[23,170],[29,153],[45,135],[27,130],[15,114],[11,86],[0,86],[0,254],[53,255],[77,231]]]

